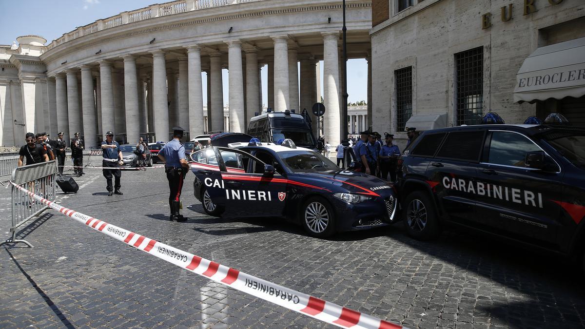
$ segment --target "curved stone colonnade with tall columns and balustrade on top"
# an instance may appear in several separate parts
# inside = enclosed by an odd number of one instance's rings
[[[346,18],[347,57],[369,58],[371,0],[347,0]],[[179,124],[191,136],[204,132],[206,119],[211,131],[245,131],[262,109],[261,67],[267,107],[302,111],[321,98],[321,60],[325,138],[339,143],[341,29],[339,0],[178,0],[91,22],[46,46],[19,37],[0,46],[0,145],[22,143],[27,131],[80,132],[88,146],[110,130],[117,140],[165,140]]]

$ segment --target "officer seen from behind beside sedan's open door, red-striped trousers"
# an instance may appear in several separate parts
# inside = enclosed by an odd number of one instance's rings
[[[185,159],[185,146],[181,143],[184,129],[173,127],[173,140],[166,143],[159,151],[159,159],[166,162],[164,171],[167,173],[168,180],[168,205],[171,208],[171,221],[186,221],[187,217],[180,214],[181,207],[181,189],[183,189],[183,180],[189,170],[189,165]]]

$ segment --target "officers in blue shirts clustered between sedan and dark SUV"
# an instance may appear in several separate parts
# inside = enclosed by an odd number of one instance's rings
[[[407,147],[416,138],[416,130],[416,128],[407,128]],[[385,132],[384,142],[382,142],[381,137],[377,132],[361,132],[360,140],[353,146],[353,152],[362,166],[362,172],[384,180],[388,180],[389,175],[390,181],[396,181],[400,149],[393,143],[393,134]]]

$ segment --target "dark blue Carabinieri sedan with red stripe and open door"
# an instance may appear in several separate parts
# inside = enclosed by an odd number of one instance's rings
[[[394,221],[397,200],[387,181],[343,172],[290,139],[229,146],[191,154],[194,194],[209,215],[281,217],[320,238]]]

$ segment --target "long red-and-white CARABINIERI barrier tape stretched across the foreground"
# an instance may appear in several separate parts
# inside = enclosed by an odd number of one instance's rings
[[[77,211],[56,204],[53,201],[37,196],[12,181],[10,183],[19,190],[28,193],[29,196],[35,198],[35,200],[48,205],[54,210],[59,211],[59,213],[65,214],[78,222],[88,225],[96,231],[122,241],[136,249],[150,253],[150,255],[156,256],[164,261],[173,263],[180,268],[190,270],[191,272],[204,276],[207,279],[232,287],[240,292],[251,294],[254,297],[270,301],[271,303],[286,307],[289,310],[297,311],[298,313],[305,314],[306,316],[316,318],[317,320],[326,323],[337,325],[338,327],[367,329],[402,328],[401,325],[380,320],[379,318],[347,309],[338,304],[333,304],[329,301],[276,285],[276,283],[268,282],[233,268],[228,268],[227,266],[209,261],[208,259],[201,258],[192,253],[144,237],[143,235],[130,232],[126,229],[98,220],[97,218],[78,213]]]

